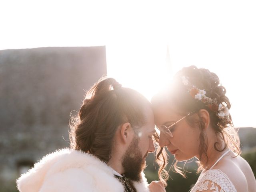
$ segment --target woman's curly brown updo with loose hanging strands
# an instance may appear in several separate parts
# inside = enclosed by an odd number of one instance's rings
[[[185,82],[184,82],[185,81]],[[204,100],[195,99],[194,94],[191,94],[188,86],[188,82],[192,85],[192,88],[195,90],[201,90],[205,94]],[[210,125],[214,129],[215,133],[221,140],[224,141],[224,147],[221,148],[221,144],[216,142],[214,144],[214,149],[216,151],[224,151],[226,148],[230,148],[237,156],[240,154],[240,141],[238,138],[237,132],[234,130],[232,118],[229,115],[226,118],[223,118],[218,113],[218,108],[220,106],[226,106],[228,111],[231,107],[230,101],[226,94],[226,89],[220,84],[218,76],[204,68],[197,68],[196,66],[189,66],[182,68],[174,76],[172,86],[167,88],[168,90],[165,94],[157,94],[152,98],[154,106],[157,107],[158,104],[164,104],[170,106],[172,109],[176,109],[178,114],[185,116],[191,112],[199,112],[200,109],[205,109],[210,114]],[[193,95],[193,96],[192,96]],[[210,101],[209,101],[210,100]],[[209,102],[213,102],[213,105],[210,105]],[[221,104],[221,105],[220,105]],[[225,108],[225,107],[224,107]],[[205,159],[208,162],[207,151],[207,136],[203,131],[205,124],[202,119],[199,117],[199,120],[193,116],[188,116],[186,118],[188,124],[192,127],[199,127],[201,130],[200,133],[200,146],[198,149],[199,152],[199,161],[198,161],[198,172],[203,170],[202,160]],[[159,136],[156,136],[156,139],[159,139]],[[158,148],[156,162],[160,166],[159,175],[166,175],[166,172],[161,172],[166,167],[167,160],[166,152],[163,148]],[[180,173],[185,177],[185,172],[180,167],[177,166],[177,161],[173,164],[175,172]],[[165,170],[164,170],[165,171]]]

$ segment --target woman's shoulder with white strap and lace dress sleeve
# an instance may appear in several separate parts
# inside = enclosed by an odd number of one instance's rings
[[[212,190],[222,190],[224,192],[252,191],[250,186],[255,187],[254,183],[255,178],[252,169],[246,160],[240,156],[229,156],[216,164],[213,169],[202,172],[192,192],[210,192]]]

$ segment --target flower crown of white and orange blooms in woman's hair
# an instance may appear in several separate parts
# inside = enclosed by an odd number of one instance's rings
[[[224,120],[224,122],[231,123],[231,119],[229,118],[230,113],[228,110],[228,106],[225,102],[222,102],[218,104],[217,98],[210,98],[206,96],[205,90],[201,90],[196,88],[196,86],[192,85],[188,81],[188,77],[182,76],[182,83],[188,87],[188,93],[192,98],[200,100],[202,103],[204,103],[210,110],[216,113],[218,118]]]

